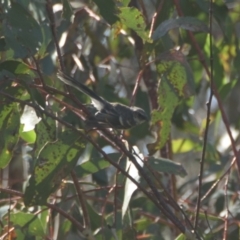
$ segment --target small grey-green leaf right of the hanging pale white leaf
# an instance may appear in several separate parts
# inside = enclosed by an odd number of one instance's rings
[[[149,157],[148,164],[155,171],[179,175],[181,177],[185,177],[187,175],[187,172],[182,164],[166,158]]]

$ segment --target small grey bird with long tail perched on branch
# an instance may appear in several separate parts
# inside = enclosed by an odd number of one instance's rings
[[[142,108],[108,102],[90,88],[63,72],[58,72],[58,78],[91,98],[96,111],[94,116],[86,120],[88,128],[128,129],[148,120],[148,116]]]

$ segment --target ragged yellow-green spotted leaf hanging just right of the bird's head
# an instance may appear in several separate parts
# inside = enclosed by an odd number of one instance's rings
[[[147,146],[150,155],[166,143],[171,130],[173,112],[179,101],[194,92],[193,74],[181,52],[163,53],[157,63],[157,72],[161,77],[158,87],[160,107],[151,113],[151,125],[157,132],[157,140]]]

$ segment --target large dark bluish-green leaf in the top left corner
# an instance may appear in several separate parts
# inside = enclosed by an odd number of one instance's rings
[[[12,2],[6,9],[3,32],[15,58],[33,56],[41,47],[42,31],[37,21],[20,4]]]

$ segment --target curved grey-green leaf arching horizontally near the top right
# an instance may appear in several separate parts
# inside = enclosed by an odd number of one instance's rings
[[[208,32],[205,23],[195,17],[180,17],[177,19],[168,19],[162,22],[152,35],[153,40],[158,40],[164,36],[169,30],[174,28],[183,28],[192,32]]]

